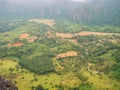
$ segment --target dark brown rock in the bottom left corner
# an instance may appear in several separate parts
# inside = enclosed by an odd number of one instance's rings
[[[12,82],[5,80],[0,76],[0,90],[18,90]]]

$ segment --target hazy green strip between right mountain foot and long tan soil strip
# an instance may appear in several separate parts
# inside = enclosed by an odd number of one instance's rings
[[[62,32],[62,33],[78,33],[80,31],[93,31],[93,32],[108,32],[108,33],[120,33],[120,27],[119,26],[110,26],[110,25],[104,25],[104,26],[90,26],[90,25],[83,25],[83,24],[76,24],[69,21],[58,21],[55,24],[56,32]]]

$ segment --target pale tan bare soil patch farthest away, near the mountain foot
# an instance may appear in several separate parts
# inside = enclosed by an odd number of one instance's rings
[[[28,22],[43,23],[50,27],[53,27],[55,21],[53,19],[30,19]]]

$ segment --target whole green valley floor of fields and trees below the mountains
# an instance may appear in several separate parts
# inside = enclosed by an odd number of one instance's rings
[[[0,75],[20,90],[120,89],[119,27],[90,27],[69,21],[57,21],[54,27],[27,21],[16,24],[0,33]],[[105,27],[112,30],[102,29]],[[81,31],[116,34],[56,35]]]

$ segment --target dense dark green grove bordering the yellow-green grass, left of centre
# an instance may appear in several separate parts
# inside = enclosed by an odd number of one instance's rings
[[[46,74],[54,71],[54,66],[49,57],[36,56],[33,58],[23,58],[19,64],[30,69],[37,74]]]

